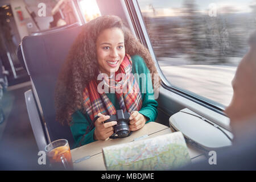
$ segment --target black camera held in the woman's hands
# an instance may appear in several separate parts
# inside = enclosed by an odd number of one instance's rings
[[[131,131],[129,130],[129,122],[130,122],[130,113],[125,112],[123,110],[117,110],[117,114],[110,115],[110,118],[104,123],[110,121],[117,121],[117,125],[114,126],[114,134],[109,138],[125,138],[130,136]],[[116,136],[117,135],[117,136]]]

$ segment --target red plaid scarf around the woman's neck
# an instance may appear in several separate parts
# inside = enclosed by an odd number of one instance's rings
[[[134,75],[131,73],[131,57],[126,54],[124,57],[119,69],[115,72],[114,77],[118,73],[123,73],[124,78],[117,78],[117,80],[111,80],[114,82],[113,84],[109,84],[110,80],[108,77],[104,77],[105,84],[104,86],[108,86],[108,88],[115,89],[115,95],[117,96],[120,108],[125,112],[137,110],[139,111],[142,106],[142,96],[139,91],[139,85],[135,80]],[[111,78],[110,78],[111,79]],[[115,79],[115,78],[114,78]],[[97,116],[98,113],[104,115],[113,115],[116,114],[116,110],[112,102],[109,100],[108,96],[106,96],[105,92],[99,93],[97,90],[97,82],[96,80],[92,80],[89,82],[88,86],[84,89],[84,108],[88,113],[90,119],[93,119]],[[101,82],[101,81],[100,81]],[[108,84],[106,84],[108,83]],[[127,88],[127,92],[122,92],[123,88]],[[121,91],[121,92],[120,92]],[[110,92],[109,92],[110,93]]]

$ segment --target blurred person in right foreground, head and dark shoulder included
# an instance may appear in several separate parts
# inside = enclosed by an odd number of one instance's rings
[[[234,134],[231,147],[216,150],[217,164],[207,160],[185,170],[256,170],[256,31],[249,38],[250,50],[233,78],[233,98],[225,113]]]

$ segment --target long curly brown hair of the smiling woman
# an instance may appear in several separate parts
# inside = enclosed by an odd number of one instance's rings
[[[143,57],[152,73],[152,85],[154,88],[159,88],[160,78],[155,81],[153,75],[158,72],[148,49],[133,36],[121,18],[114,15],[100,16],[84,25],[61,68],[55,89],[55,108],[56,120],[63,125],[67,122],[71,125],[72,114],[75,111],[86,112],[82,106],[82,93],[86,85],[91,80],[97,79],[98,75],[96,40],[103,30],[114,27],[123,31],[126,53]]]

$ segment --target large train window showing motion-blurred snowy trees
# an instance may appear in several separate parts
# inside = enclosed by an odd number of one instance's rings
[[[256,1],[137,2],[169,85],[224,109],[237,65],[249,50],[247,39],[256,29]]]

